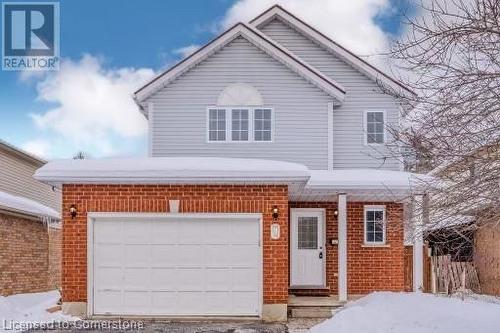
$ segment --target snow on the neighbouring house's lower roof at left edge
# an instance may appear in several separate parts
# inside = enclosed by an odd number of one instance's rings
[[[50,207],[42,205],[36,201],[18,197],[2,191],[0,191],[0,209],[37,217],[51,217],[54,219],[61,218],[59,213]]]

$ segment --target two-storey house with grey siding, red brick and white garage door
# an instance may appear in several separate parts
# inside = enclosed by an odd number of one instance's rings
[[[63,310],[284,320],[290,294],[402,291],[387,90],[412,94],[279,6],[153,79],[149,157],[36,173],[63,192]]]

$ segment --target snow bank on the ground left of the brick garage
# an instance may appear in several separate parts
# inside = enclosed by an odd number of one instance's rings
[[[63,315],[61,311],[49,313],[60,295],[57,290],[44,293],[0,296],[0,333],[14,332],[15,323],[48,323],[72,321],[78,318]],[[19,330],[17,330],[19,331]]]

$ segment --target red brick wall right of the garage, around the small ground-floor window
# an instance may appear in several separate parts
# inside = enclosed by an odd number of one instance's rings
[[[364,205],[385,205],[388,247],[363,247]],[[332,294],[338,291],[336,273],[337,239],[336,202],[291,202],[290,208],[324,208],[326,212],[326,281]],[[403,205],[398,203],[347,203],[347,292],[366,294],[377,290],[404,290]]]

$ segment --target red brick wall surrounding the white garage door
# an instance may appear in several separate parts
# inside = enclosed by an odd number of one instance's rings
[[[64,185],[63,300],[87,300],[87,212],[166,212],[179,199],[181,212],[262,213],[264,303],[288,299],[288,189],[284,185]],[[78,216],[71,219],[70,205]],[[271,240],[272,207],[280,210],[281,238]]]

